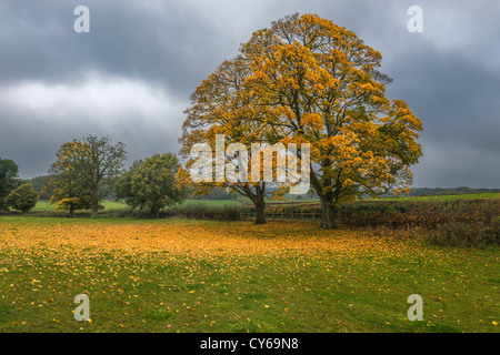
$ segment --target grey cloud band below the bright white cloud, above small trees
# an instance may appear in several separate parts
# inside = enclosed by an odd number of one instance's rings
[[[66,124],[54,124],[50,118],[44,118],[46,122],[33,121],[19,113],[9,116],[10,120],[2,122],[2,131],[9,134],[2,134],[0,156],[17,162],[23,178],[46,174],[61,144],[89,133],[109,135],[114,143],[126,143],[129,162],[154,153],[178,151],[177,130],[152,128],[134,116],[121,116],[122,124],[107,128],[99,122],[88,122],[84,116],[73,116]]]

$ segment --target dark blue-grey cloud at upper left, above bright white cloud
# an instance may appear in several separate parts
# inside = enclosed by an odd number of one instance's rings
[[[0,80],[78,81],[99,70],[140,77],[186,95],[224,59],[224,33],[197,7],[168,1],[158,9],[140,2],[83,1],[90,33],[73,31],[82,1],[11,1],[3,9]],[[207,40],[210,39],[210,40]]]

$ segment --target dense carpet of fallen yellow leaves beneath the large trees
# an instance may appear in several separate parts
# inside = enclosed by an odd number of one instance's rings
[[[282,233],[286,225],[286,234]],[[164,223],[9,223],[0,225],[0,251],[29,251],[60,254],[79,252],[81,257],[120,252],[129,255],[162,253],[176,255],[288,255],[317,253],[346,254],[367,250],[393,247],[383,237],[370,232],[321,231],[304,223],[271,222],[253,225],[250,222],[220,224],[210,222]],[[408,247],[408,245],[407,245]],[[111,257],[116,257],[112,253]],[[64,265],[60,260],[61,266]],[[138,281],[136,276],[130,276]],[[40,281],[32,278],[31,283]]]

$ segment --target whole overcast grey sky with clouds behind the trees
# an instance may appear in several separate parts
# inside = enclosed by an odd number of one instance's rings
[[[74,8],[90,10],[77,33]],[[411,33],[410,6],[423,10]],[[258,29],[294,12],[354,31],[382,54],[423,122],[416,186],[500,187],[500,2],[2,0],[0,156],[47,173],[83,135],[126,143],[129,162],[178,152],[191,92]]]

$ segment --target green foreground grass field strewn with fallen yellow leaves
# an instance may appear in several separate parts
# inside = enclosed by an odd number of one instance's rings
[[[496,247],[303,222],[0,220],[0,332],[499,329]],[[91,322],[72,314],[82,293]]]

